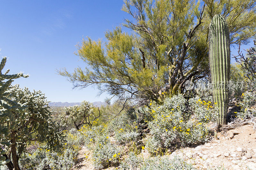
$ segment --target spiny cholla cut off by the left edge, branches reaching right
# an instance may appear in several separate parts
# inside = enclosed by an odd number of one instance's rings
[[[2,73],[7,58],[4,57],[0,64],[0,169],[4,169],[5,164],[10,162],[10,157],[6,155],[6,151],[3,148],[10,146],[10,140],[6,140],[10,136],[10,130],[15,128],[16,119],[15,114],[23,115],[27,106],[20,102],[10,99],[11,93],[9,87],[13,79],[20,77],[28,77],[23,73],[8,75],[10,70]]]

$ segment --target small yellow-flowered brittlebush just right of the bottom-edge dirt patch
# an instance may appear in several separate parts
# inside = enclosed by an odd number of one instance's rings
[[[110,143],[108,136],[102,136],[93,150],[93,161],[95,169],[102,169],[120,162],[121,150],[117,145]]]

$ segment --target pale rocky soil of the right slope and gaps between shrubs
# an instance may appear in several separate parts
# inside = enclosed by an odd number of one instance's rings
[[[252,125],[244,125],[217,134],[219,140],[186,147],[165,155],[172,159],[179,156],[196,169],[255,169],[256,170],[256,131]],[[149,157],[147,150],[142,150],[143,158]],[[74,170],[93,169],[92,152],[85,147],[79,152],[80,163]],[[107,169],[115,169],[109,167]]]

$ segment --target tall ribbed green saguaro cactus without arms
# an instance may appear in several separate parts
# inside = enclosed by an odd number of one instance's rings
[[[227,124],[230,40],[225,19],[216,14],[209,26],[209,56],[213,101],[219,107],[219,124]]]

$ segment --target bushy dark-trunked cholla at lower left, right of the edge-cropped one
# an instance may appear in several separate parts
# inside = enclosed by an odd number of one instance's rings
[[[4,136],[3,141],[11,143],[8,158],[12,162],[6,164],[8,168],[19,170],[19,158],[26,152],[27,144],[32,141],[47,143],[48,148],[54,149],[64,142],[63,132],[58,132],[59,126],[52,122],[52,112],[44,94],[39,91],[30,92],[28,88],[20,89],[19,85],[9,88],[8,98],[12,101],[26,104],[27,110],[23,114],[13,112],[15,123],[4,121],[12,128],[10,135]]]

